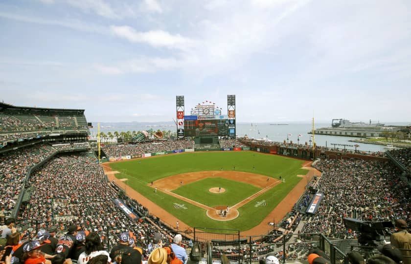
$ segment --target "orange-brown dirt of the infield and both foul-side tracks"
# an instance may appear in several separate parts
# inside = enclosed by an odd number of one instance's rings
[[[261,235],[261,234],[266,234],[270,230],[273,229],[272,226],[268,225],[269,222],[278,222],[284,218],[284,216],[293,208],[294,204],[297,202],[298,198],[301,196],[301,194],[305,190],[305,186],[309,182],[309,180],[314,176],[318,175],[320,176],[321,173],[317,171],[316,169],[309,167],[311,165],[311,162],[308,161],[303,164],[303,169],[308,170],[308,173],[304,176],[300,176],[303,179],[300,180],[297,185],[288,193],[288,195],[278,204],[277,207],[274,208],[274,210],[257,226],[241,232],[241,236],[251,236],[251,235]],[[179,230],[187,230],[191,229],[193,230],[193,227],[188,226],[181,220],[177,219],[164,209],[162,209],[160,206],[149,200],[148,198],[145,198],[141,194],[139,194],[136,190],[132,188],[127,188],[126,183],[123,181],[118,181],[115,176],[114,172],[108,165],[108,163],[102,164],[102,167],[104,169],[104,173],[108,176],[109,180],[116,180],[116,183],[123,188],[126,191],[126,194],[131,197],[136,199],[139,203],[141,203],[144,207],[149,208],[150,214],[157,216],[161,220],[165,220],[167,223],[176,223],[177,221],[180,221],[179,224]],[[248,184],[252,184],[254,186],[257,186],[259,188],[262,188],[259,192],[253,194],[252,196],[242,200],[241,202],[235,204],[234,206],[230,207],[228,210],[228,214],[226,217],[224,217],[224,210],[227,209],[226,206],[221,205],[221,206],[216,206],[214,208],[211,208],[209,206],[206,206],[204,204],[201,204],[199,202],[193,201],[191,199],[179,196],[175,193],[172,193],[171,191],[174,189],[177,189],[180,187],[182,184],[187,184],[190,182],[195,182],[203,178],[207,177],[221,177],[221,178],[227,178],[231,180],[236,180],[236,181],[241,181],[245,182]],[[159,190],[161,190],[164,193],[167,193],[168,195],[175,196],[179,199],[182,199],[186,202],[195,204],[198,207],[204,208],[207,210],[207,216],[214,219],[214,220],[220,220],[220,221],[227,221],[227,220],[232,220],[236,217],[238,217],[238,211],[237,208],[240,208],[256,196],[261,195],[262,193],[270,190],[273,188],[275,185],[279,184],[280,180],[272,178],[272,177],[267,177],[263,175],[257,175],[257,174],[252,174],[252,173],[245,173],[245,172],[237,172],[237,171],[205,171],[205,172],[195,172],[195,173],[185,173],[185,174],[180,174],[180,175],[174,175],[174,176],[169,176],[166,178],[162,178],[159,180],[156,180],[153,182],[153,186],[156,186]],[[151,183],[148,184],[148,186],[151,186]],[[218,193],[219,187],[216,186],[214,188],[214,191],[217,191]],[[222,188],[223,190],[223,188]],[[223,211],[223,212],[222,212]],[[171,224],[173,226],[173,224]],[[175,227],[175,226],[173,226]]]

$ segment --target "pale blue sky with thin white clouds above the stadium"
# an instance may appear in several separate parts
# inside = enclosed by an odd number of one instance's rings
[[[88,121],[411,122],[409,0],[2,0],[0,100]]]

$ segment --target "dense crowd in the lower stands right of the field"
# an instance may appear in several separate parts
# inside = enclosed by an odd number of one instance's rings
[[[315,167],[323,172],[317,188],[324,196],[302,233],[355,239],[358,234],[346,230],[343,218],[380,221],[410,218],[407,213],[411,210],[410,190],[390,162],[324,159]]]

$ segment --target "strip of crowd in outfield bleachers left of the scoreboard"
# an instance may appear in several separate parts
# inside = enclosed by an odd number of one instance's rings
[[[137,144],[110,145],[103,148],[103,151],[110,157],[120,157],[192,148],[194,148],[194,141],[187,138],[184,140],[158,140]]]

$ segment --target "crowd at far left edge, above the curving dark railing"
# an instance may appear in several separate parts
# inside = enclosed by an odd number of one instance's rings
[[[55,150],[45,144],[18,149],[0,156],[0,211],[9,216],[14,209],[28,170]]]

